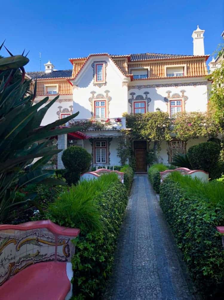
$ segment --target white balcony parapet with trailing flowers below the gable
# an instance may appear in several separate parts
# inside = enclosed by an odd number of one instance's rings
[[[126,129],[126,118],[104,118],[104,119],[72,119],[68,122],[70,126],[81,126],[85,131],[91,130],[121,130]]]

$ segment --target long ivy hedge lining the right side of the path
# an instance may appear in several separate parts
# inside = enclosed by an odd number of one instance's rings
[[[224,251],[216,230],[224,224],[223,210],[169,178],[160,187],[160,206],[203,299],[223,299]]]

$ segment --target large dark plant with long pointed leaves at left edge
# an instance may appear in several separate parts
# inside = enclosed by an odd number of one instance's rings
[[[15,205],[24,204],[36,196],[27,195],[24,201],[16,202],[15,193],[20,187],[33,183],[64,184],[63,181],[51,177],[54,170],[42,170],[42,166],[54,154],[62,151],[51,146],[52,137],[80,129],[80,127],[58,128],[76,117],[79,112],[40,127],[47,110],[59,96],[48,104],[46,104],[48,97],[34,104],[36,82],[34,95],[26,95],[31,81],[24,81],[23,66],[29,59],[23,54],[13,56],[10,53],[10,57],[0,59],[0,223]],[[22,80],[10,84],[18,68],[22,71]],[[6,77],[8,70],[11,72]],[[44,104],[46,105],[42,107]],[[41,159],[24,172],[25,167],[31,164],[34,158]]]

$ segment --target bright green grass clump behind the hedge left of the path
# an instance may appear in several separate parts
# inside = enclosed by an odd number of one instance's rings
[[[95,199],[115,182],[118,182],[118,176],[110,173],[96,180],[84,180],[76,186],[72,184],[49,205],[51,220],[61,226],[80,228],[83,232],[102,230],[100,210]]]

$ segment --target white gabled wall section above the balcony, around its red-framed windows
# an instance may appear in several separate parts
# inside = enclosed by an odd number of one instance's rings
[[[92,63],[95,61],[106,61],[106,85],[95,86],[93,78]],[[91,91],[95,91],[95,97],[97,94],[103,94],[106,96],[105,91],[109,90],[108,95],[112,98],[109,103],[109,116],[107,118],[122,117],[122,114],[127,111],[127,85],[122,86],[125,76],[121,73],[118,67],[108,56],[94,56],[87,61],[83,70],[77,76],[77,79],[73,81],[73,101],[74,112],[80,111],[77,119],[91,118],[92,106],[89,102],[89,98],[92,97]]]

